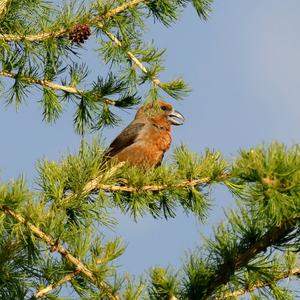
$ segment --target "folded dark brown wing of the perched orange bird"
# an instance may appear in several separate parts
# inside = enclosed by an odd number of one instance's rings
[[[107,153],[108,157],[113,157],[121,152],[124,148],[134,143],[145,123],[129,124],[110,144]]]

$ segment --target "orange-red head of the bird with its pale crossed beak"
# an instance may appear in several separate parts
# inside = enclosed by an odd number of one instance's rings
[[[156,101],[144,104],[136,113],[135,119],[146,118],[161,125],[182,125],[184,116],[176,111],[170,103]]]

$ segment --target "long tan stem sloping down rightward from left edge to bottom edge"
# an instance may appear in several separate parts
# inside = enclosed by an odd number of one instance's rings
[[[119,297],[114,295],[111,287],[105,281],[98,281],[97,276],[90,271],[78,258],[74,257],[65,247],[59,244],[56,240],[54,240],[51,236],[43,232],[41,229],[28,222],[23,216],[10,209],[5,205],[0,205],[0,210],[2,210],[5,214],[13,217],[15,220],[25,225],[36,237],[43,240],[48,246],[51,247],[52,251],[58,252],[62,257],[64,257],[68,262],[76,266],[76,270],[83,273],[87,278],[91,280],[96,286],[100,289],[106,291],[107,296],[110,300],[119,300]]]

